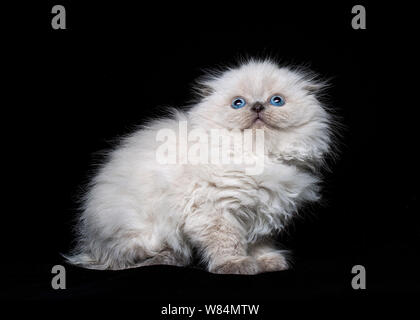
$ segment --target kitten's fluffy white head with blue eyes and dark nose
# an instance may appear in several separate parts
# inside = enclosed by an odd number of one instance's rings
[[[269,151],[291,158],[329,150],[331,116],[317,99],[324,85],[313,74],[250,60],[198,84],[202,99],[190,115],[201,127],[263,129]]]

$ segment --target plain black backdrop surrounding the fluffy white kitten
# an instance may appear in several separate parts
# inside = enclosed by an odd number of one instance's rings
[[[416,158],[408,139],[415,127],[396,90],[401,80],[391,76],[408,63],[396,58],[404,40],[392,20],[403,12],[362,3],[367,29],[353,30],[351,8],[359,3],[351,2],[61,2],[67,30],[53,30],[54,4],[22,9],[27,27],[8,32],[2,297],[47,304],[133,299],[141,314],[158,317],[166,303],[260,303],[268,316],[280,306],[357,308],[411,303],[418,295]],[[340,158],[326,174],[325,206],[310,208],[281,238],[294,269],[229,276],[66,265],[67,289],[53,290],[51,268],[64,264],[59,253],[72,246],[76,199],[95,153],[167,106],[187,104],[203,69],[244,56],[306,64],[330,78],[327,103],[346,127]],[[366,290],[351,288],[356,264],[366,268]]]

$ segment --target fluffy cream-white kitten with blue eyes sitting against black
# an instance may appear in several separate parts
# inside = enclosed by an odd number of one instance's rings
[[[91,182],[70,263],[92,269],[185,266],[193,248],[215,273],[284,270],[274,238],[302,203],[316,201],[317,168],[330,152],[332,117],[322,84],[297,69],[251,60],[199,82],[187,112],[125,138]],[[274,98],[273,98],[274,97]],[[161,129],[264,130],[264,170],[168,164],[156,159]],[[179,142],[177,142],[179,143]]]

